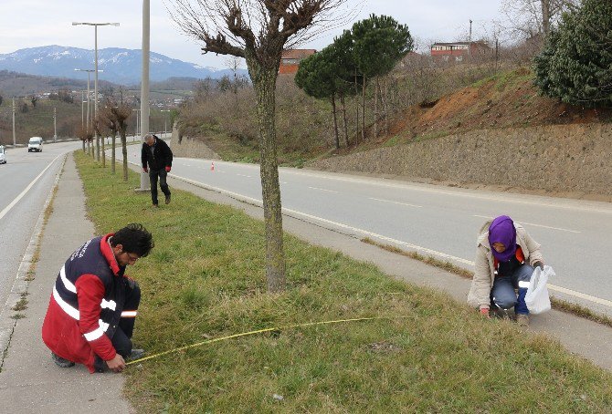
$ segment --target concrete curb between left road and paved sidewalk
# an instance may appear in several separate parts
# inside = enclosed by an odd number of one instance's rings
[[[38,220],[36,225],[34,226],[32,237],[30,238],[30,242],[28,243],[26,248],[26,254],[24,254],[21,263],[19,264],[19,269],[17,270],[15,281],[13,282],[13,286],[11,287],[11,292],[6,298],[5,305],[0,309],[0,369],[2,369],[4,365],[5,356],[8,351],[8,347],[11,344],[11,337],[13,336],[13,331],[17,323],[17,319],[14,319],[10,316],[11,312],[15,312],[11,308],[15,306],[17,302],[19,302],[22,294],[27,293],[27,285],[29,282],[27,280],[28,270],[33,264],[33,259],[40,242],[40,237],[45,227],[45,213],[47,212],[47,208],[53,200],[55,190],[58,188],[59,178],[61,177],[62,171],[64,170],[66,157],[67,156],[64,156],[64,160],[61,161],[61,165],[59,166],[59,170],[56,175],[53,186],[51,187],[51,190],[47,195],[45,205],[43,206],[40,214],[38,215]]]

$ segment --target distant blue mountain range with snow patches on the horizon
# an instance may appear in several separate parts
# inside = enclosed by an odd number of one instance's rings
[[[153,81],[168,78],[222,78],[231,74],[229,69],[200,67],[151,52],[150,77]],[[92,68],[94,51],[77,47],[31,47],[0,55],[0,70],[10,70],[30,75],[59,78],[87,79],[87,74],[76,73],[75,68]],[[99,79],[121,85],[140,84],[142,51],[109,47],[98,50]],[[247,71],[240,69],[240,74]]]

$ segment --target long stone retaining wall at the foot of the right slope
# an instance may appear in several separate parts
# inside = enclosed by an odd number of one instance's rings
[[[612,202],[612,124],[481,129],[311,163],[470,188]]]

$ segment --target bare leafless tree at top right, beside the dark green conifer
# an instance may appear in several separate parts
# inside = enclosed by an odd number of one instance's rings
[[[580,0],[502,0],[501,13],[506,21],[499,26],[511,36],[546,37],[561,14],[579,3]]]

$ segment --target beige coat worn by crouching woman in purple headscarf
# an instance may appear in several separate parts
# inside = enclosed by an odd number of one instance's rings
[[[480,235],[477,240],[474,277],[471,280],[470,294],[468,295],[468,303],[472,306],[489,307],[491,304],[491,288],[495,279],[493,254],[489,244],[489,227],[491,223],[492,220],[484,223],[482,228],[480,228]],[[532,266],[535,262],[543,263],[540,244],[535,243],[532,236],[522,228],[521,224],[514,223],[514,228],[516,229],[516,243],[522,248],[525,262]]]

